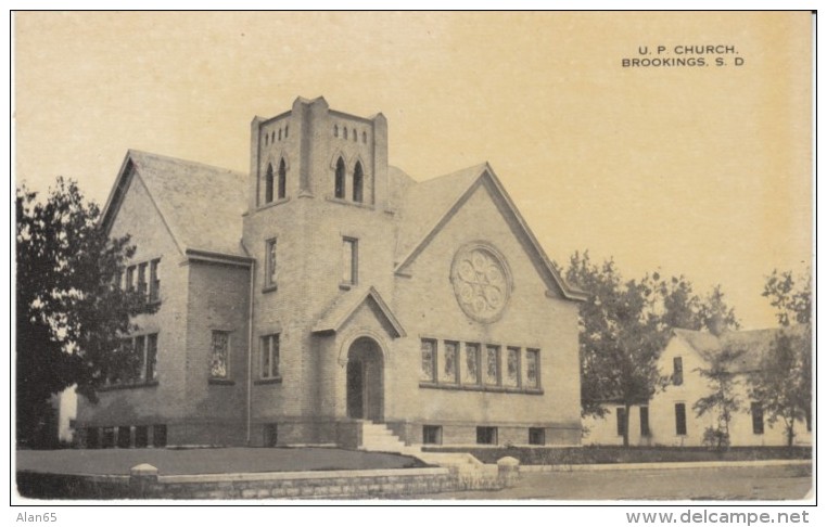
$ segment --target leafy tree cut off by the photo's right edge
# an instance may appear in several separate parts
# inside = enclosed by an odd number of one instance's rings
[[[790,271],[774,270],[763,296],[776,308],[781,330],[758,372],[751,377],[751,396],[761,401],[769,423],[784,422],[787,446],[796,437],[796,422],[812,417],[812,280],[794,279]]]

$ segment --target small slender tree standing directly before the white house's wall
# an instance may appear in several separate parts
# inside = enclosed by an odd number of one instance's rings
[[[745,350],[724,348],[711,360],[710,368],[698,371],[707,378],[712,388],[710,395],[698,399],[692,409],[699,417],[707,413],[715,416],[715,426],[704,433],[704,442],[713,444],[722,449],[729,446],[729,423],[733,414],[741,410],[741,400],[736,391],[736,374],[731,364]]]

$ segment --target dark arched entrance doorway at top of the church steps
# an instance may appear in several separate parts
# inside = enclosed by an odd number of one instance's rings
[[[384,419],[384,360],[370,337],[357,338],[347,350],[347,416]]]

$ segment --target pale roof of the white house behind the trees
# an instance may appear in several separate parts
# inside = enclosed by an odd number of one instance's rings
[[[783,330],[730,331],[720,336],[711,333],[675,329],[675,335],[683,338],[705,361],[711,362],[725,349],[743,351],[729,367],[731,373],[750,373],[761,369],[761,359],[769,351],[776,336]],[[792,326],[784,331],[801,334],[802,327]]]

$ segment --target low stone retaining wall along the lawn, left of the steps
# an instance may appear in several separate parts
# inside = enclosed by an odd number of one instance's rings
[[[489,488],[501,488],[497,480]],[[460,490],[448,468],[330,471],[194,476],[92,476],[17,473],[17,489],[27,498],[66,499],[359,499],[403,497]]]

